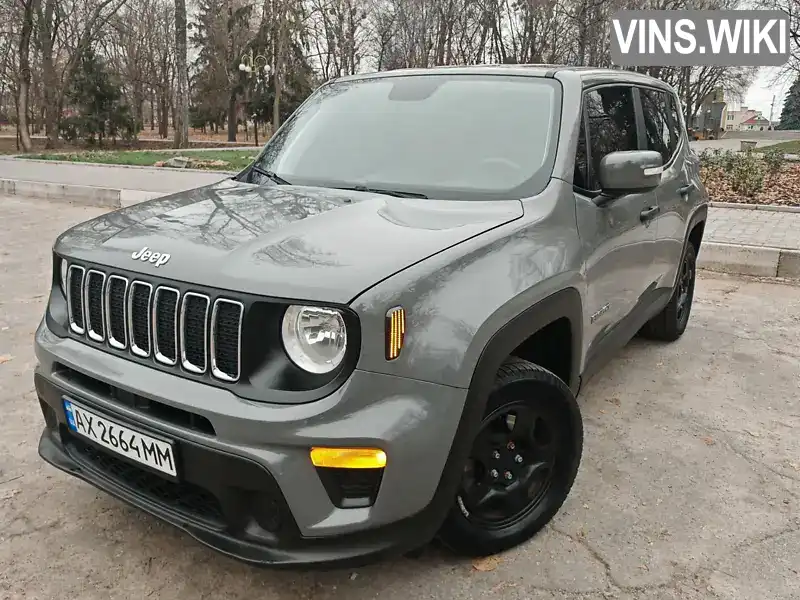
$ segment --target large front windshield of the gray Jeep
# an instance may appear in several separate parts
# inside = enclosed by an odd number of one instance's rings
[[[295,185],[526,197],[549,180],[560,105],[560,85],[539,77],[334,82],[295,111],[256,166]]]

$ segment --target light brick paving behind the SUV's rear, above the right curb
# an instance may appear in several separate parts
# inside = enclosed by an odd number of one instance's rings
[[[800,250],[800,213],[712,206],[704,238],[724,244]]]

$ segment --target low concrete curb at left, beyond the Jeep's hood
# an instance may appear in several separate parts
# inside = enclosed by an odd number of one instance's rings
[[[91,185],[0,179],[0,193],[46,200],[66,200],[82,206],[125,208],[132,204],[167,195],[166,192],[101,188]]]

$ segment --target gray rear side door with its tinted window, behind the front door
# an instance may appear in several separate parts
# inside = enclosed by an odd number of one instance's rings
[[[661,184],[656,190],[659,211],[653,221],[653,278],[659,287],[672,287],[691,208],[693,189],[687,165],[691,150],[675,95],[647,87],[639,88],[639,95],[645,148],[660,152],[664,160]]]

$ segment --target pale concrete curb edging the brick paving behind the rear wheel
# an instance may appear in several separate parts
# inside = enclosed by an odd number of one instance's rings
[[[732,275],[798,279],[800,250],[703,242],[697,266]]]

